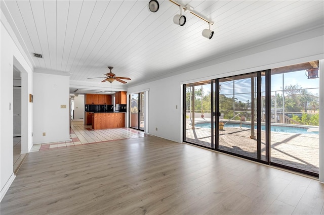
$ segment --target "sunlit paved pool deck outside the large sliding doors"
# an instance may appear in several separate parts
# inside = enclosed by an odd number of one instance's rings
[[[196,122],[210,119],[195,118]],[[237,122],[237,121],[236,121]],[[211,147],[211,129],[191,129],[191,120],[186,120],[188,142]],[[257,158],[257,140],[251,139],[251,129],[225,127],[219,131],[219,148],[232,153]],[[255,131],[256,135],[256,131]],[[271,132],[271,162],[318,173],[318,134]],[[262,131],[262,160],[265,160],[265,131]]]

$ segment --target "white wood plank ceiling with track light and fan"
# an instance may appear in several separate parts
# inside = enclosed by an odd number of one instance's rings
[[[176,5],[159,1],[151,13],[148,2],[10,0],[2,7],[34,68],[69,72],[71,85],[88,88],[107,85],[87,79],[101,77],[107,66],[133,85],[324,22],[323,1],[179,1],[215,22],[209,40],[201,36],[206,22],[188,13],[184,26],[175,25]]]

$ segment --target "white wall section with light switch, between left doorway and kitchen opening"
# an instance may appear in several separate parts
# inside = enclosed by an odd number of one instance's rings
[[[42,73],[44,72],[44,73]],[[34,70],[34,144],[69,140],[69,80],[67,75],[53,75]],[[65,108],[61,108],[65,105]],[[45,132],[46,136],[43,136]]]

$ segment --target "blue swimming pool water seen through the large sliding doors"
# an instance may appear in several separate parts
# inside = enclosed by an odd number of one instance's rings
[[[215,124],[214,124],[215,125]],[[200,128],[211,128],[211,123],[196,123],[196,127]],[[226,123],[224,127],[234,127],[234,128],[239,128],[239,123]],[[251,125],[249,124],[243,124],[242,123],[242,128],[251,128]],[[254,127],[257,129],[257,126]],[[278,125],[271,125],[271,131],[274,132],[284,132],[284,133],[297,133],[297,134],[317,134],[318,132],[307,132],[308,128],[302,128],[302,127],[293,127],[293,126],[278,126]],[[261,126],[261,130],[265,130],[265,125]]]

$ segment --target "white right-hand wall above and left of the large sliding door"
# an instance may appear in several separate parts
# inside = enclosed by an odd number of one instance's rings
[[[128,93],[149,89],[149,133],[182,142],[182,84],[324,59],[323,28],[308,34],[309,39],[305,36],[294,35],[206,62],[206,67],[187,68],[188,72],[179,75],[131,86]]]

